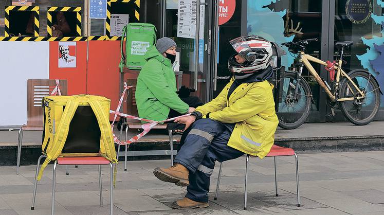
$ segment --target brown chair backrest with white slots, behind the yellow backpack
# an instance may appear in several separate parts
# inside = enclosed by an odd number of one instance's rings
[[[28,79],[27,81],[27,125],[26,127],[43,127],[43,109],[41,101],[49,96],[56,87],[54,79]],[[61,95],[67,95],[67,80],[59,80]]]

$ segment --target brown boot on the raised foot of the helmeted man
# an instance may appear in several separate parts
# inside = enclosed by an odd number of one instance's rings
[[[185,187],[189,185],[188,169],[181,164],[174,164],[169,168],[157,167],[153,174],[163,182],[175,183],[177,186]]]

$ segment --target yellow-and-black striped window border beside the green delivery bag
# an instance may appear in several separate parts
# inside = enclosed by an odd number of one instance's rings
[[[130,23],[138,23],[140,21],[140,0],[108,0],[107,3],[107,19],[105,20],[105,33],[109,40],[118,40],[120,37],[111,37],[111,3],[127,3],[126,8],[132,8],[135,15],[130,17]]]

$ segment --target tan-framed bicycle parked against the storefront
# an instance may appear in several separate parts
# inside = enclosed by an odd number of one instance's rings
[[[303,67],[305,66],[316,82],[327,94],[327,105],[331,106],[332,115],[334,109],[341,109],[341,112],[350,122],[356,125],[370,123],[375,117],[382,95],[380,86],[368,71],[356,69],[348,74],[341,68],[343,62],[344,48],[353,44],[353,41],[336,42],[338,54],[341,49],[340,59],[334,62],[324,62],[305,53],[306,45],[317,39],[300,40],[297,42],[282,43],[288,50],[298,55],[298,64],[295,71],[285,71],[280,78],[280,91],[277,115],[279,127],[283,129],[296,129],[303,124],[308,116],[312,100],[312,92],[305,79],[302,78]],[[330,84],[321,79],[315,68],[310,64],[314,62],[326,66],[330,71]],[[333,76],[333,77],[332,77]]]

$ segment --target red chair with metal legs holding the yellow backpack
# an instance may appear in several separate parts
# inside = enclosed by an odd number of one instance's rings
[[[45,155],[41,155],[38,160],[38,165],[36,167],[36,175],[34,180],[33,187],[33,198],[32,198],[32,206],[31,210],[34,210],[34,202],[36,198],[36,190],[38,186],[38,173],[40,167],[40,160],[46,157]],[[99,188],[100,188],[100,206],[103,206],[103,191],[102,191],[102,183],[101,183],[101,165],[109,165],[111,167],[111,215],[113,214],[113,177],[114,177],[114,165],[109,162],[104,157],[58,157],[53,164],[53,177],[52,177],[52,205],[51,212],[54,214],[54,194],[56,187],[56,167],[57,165],[98,165],[99,166]]]

